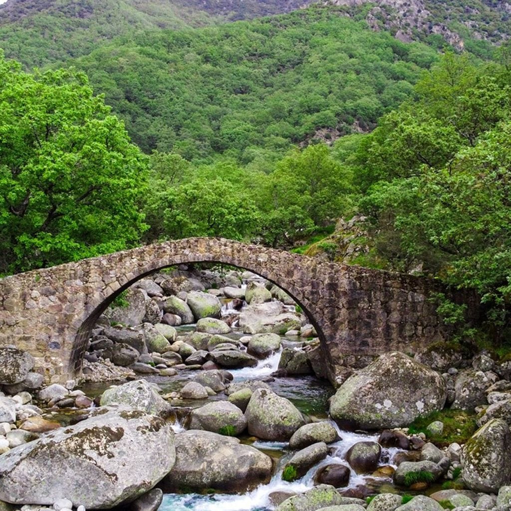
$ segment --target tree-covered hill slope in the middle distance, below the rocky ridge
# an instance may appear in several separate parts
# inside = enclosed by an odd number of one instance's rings
[[[338,9],[147,32],[74,61],[144,151],[269,162],[291,145],[372,129],[434,49]]]

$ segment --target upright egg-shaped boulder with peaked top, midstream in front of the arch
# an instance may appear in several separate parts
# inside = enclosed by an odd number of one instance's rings
[[[245,416],[248,432],[265,440],[289,440],[305,424],[291,401],[263,388],[253,392]]]

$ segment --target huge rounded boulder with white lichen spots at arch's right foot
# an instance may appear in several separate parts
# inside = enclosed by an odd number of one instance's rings
[[[441,375],[404,353],[392,352],[381,355],[338,388],[330,402],[330,415],[341,426],[395,428],[441,410],[446,398],[447,386]]]

